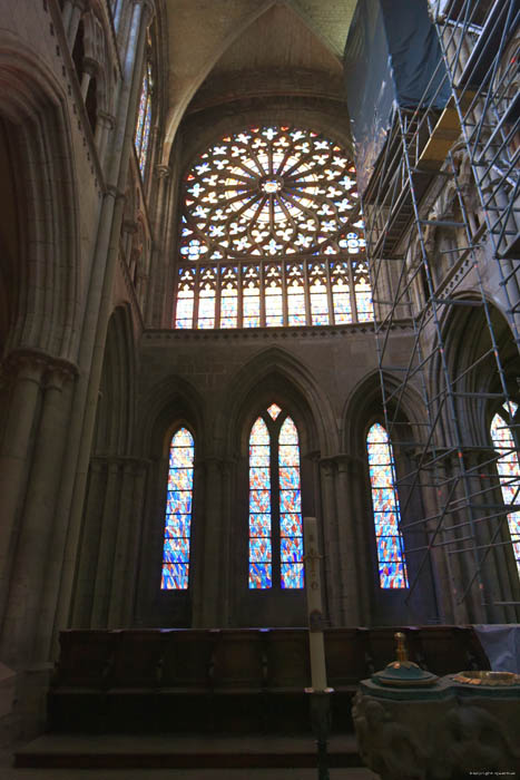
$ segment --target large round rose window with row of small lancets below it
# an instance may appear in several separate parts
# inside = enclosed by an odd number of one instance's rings
[[[183,199],[179,275],[187,263],[234,267],[236,280],[215,289],[224,315],[209,324],[195,305],[192,328],[373,320],[355,168],[336,142],[284,125],[224,136],[188,170]],[[176,328],[185,293],[178,276]]]

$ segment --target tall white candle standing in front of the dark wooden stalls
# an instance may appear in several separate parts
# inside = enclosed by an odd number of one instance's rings
[[[324,691],[326,684],[325,645],[323,642],[322,584],[320,578],[320,552],[315,517],[304,517],[305,592],[307,595],[308,645],[311,651],[311,679],[315,691]]]

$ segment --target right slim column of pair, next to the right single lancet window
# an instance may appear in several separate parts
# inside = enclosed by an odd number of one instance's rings
[[[336,501],[339,514],[339,550],[341,566],[342,594],[342,616],[346,625],[360,624],[360,594],[357,559],[360,552],[355,539],[356,523],[362,521],[362,517],[354,511],[353,503],[350,500],[352,494],[352,457],[341,454],[335,458],[337,466],[336,479]]]

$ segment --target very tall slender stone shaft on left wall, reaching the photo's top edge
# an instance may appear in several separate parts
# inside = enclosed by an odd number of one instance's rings
[[[96,252],[84,319],[79,355],[80,379],[70,422],[70,457],[66,460],[63,490],[57,509],[61,528],[63,568],[53,586],[59,599],[56,626],[69,622],[70,598],[81,538],[81,520],[90,461],[99,383],[107,328],[114,305],[112,287],[124,213],[128,160],[134,142],[135,116],[140,89],[140,70],[146,28],[154,11],[153,0],[135,0],[128,47],[124,59],[124,82],[119,96],[111,153],[107,155],[107,187],[101,204]]]

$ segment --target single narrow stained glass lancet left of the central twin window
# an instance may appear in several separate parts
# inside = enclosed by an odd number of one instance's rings
[[[194,440],[187,428],[179,428],[169,448],[163,591],[186,591],[189,577]]]

